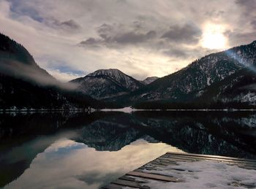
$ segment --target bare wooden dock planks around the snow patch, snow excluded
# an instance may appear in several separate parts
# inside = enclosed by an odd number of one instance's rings
[[[243,169],[255,169],[256,170],[256,160],[248,160],[241,158],[230,158],[217,155],[200,155],[200,154],[190,154],[190,153],[166,153],[151,162],[146,163],[134,171],[130,171],[123,177],[118,178],[111,182],[109,185],[104,186],[104,189],[120,189],[120,188],[142,188],[148,189],[149,187],[145,185],[140,179],[154,180],[159,182],[182,182],[176,177],[170,177],[159,173],[148,173],[145,170],[159,170],[159,167],[165,166],[176,166],[178,162],[195,162],[195,161],[217,161],[230,165],[236,165]],[[182,171],[180,170],[181,174]],[[138,178],[135,179],[135,178]],[[247,188],[247,187],[246,187]],[[252,188],[252,186],[248,186]]]

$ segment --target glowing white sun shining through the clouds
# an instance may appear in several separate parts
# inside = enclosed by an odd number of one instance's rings
[[[227,39],[223,34],[224,26],[217,24],[206,24],[203,29],[201,45],[208,49],[224,49],[227,46]]]

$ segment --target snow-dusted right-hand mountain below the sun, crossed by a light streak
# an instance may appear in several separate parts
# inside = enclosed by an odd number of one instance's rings
[[[249,45],[241,45],[206,55],[178,72],[159,78],[151,84],[135,90],[129,95],[113,99],[113,101],[126,103],[126,105],[138,101],[168,101],[170,103],[192,101],[195,98],[193,94],[196,92],[221,82],[229,76],[232,78],[231,75],[242,69],[253,70],[255,64],[256,41]]]

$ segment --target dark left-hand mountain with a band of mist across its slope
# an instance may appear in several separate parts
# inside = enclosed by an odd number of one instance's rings
[[[97,101],[52,77],[25,47],[0,34],[0,109],[91,107]]]

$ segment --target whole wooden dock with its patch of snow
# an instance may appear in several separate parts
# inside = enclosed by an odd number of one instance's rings
[[[256,160],[166,153],[103,188],[256,188]]]

